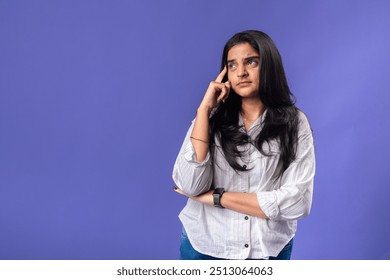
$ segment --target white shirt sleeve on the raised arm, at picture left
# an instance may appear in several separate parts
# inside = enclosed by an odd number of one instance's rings
[[[176,186],[183,192],[197,196],[210,189],[213,181],[213,168],[210,159],[210,151],[202,162],[196,160],[196,153],[190,135],[194,127],[194,121],[188,129],[187,135],[181,146],[173,167],[172,178]]]

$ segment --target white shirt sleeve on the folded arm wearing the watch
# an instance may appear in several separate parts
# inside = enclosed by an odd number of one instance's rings
[[[310,213],[315,174],[314,141],[307,118],[301,114],[296,160],[284,171],[280,188],[257,193],[260,208],[271,220],[296,220]]]

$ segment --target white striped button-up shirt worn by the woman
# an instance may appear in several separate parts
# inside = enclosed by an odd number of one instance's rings
[[[261,131],[266,113],[247,131],[252,140]],[[312,131],[306,116],[300,111],[298,116],[297,157],[276,182],[276,141],[264,144],[264,150],[272,152],[272,156],[262,155],[252,144],[240,146],[246,152],[238,162],[249,170],[235,171],[226,161],[217,138],[214,164],[210,152],[203,162],[196,160],[189,138],[192,122],[173,169],[177,187],[190,195],[204,193],[211,185],[228,192],[256,193],[260,208],[269,217],[265,220],[189,199],[179,218],[195,250],[224,259],[261,259],[277,256],[294,237],[297,219],[310,212],[315,173]],[[243,125],[241,116],[239,125]]]

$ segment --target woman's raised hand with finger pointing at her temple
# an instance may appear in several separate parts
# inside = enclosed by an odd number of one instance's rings
[[[226,72],[225,66],[215,81],[210,82],[199,108],[207,108],[211,111],[217,107],[219,103],[226,101],[230,92],[230,82],[227,81],[222,83],[222,79]]]

